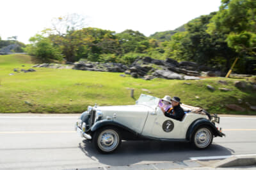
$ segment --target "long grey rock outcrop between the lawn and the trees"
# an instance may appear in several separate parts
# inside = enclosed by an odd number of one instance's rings
[[[157,60],[150,57],[140,57],[132,64],[125,65],[121,63],[101,63],[88,62],[81,60],[79,62],[67,62],[63,64],[37,64],[33,67],[51,67],[54,69],[78,69],[84,71],[108,71],[116,73],[131,74],[134,78],[143,78],[152,80],[154,78],[166,78],[177,80],[200,80],[200,69],[208,71],[207,76],[216,76],[216,72],[209,67],[200,67],[196,62],[166,59]],[[208,69],[208,70],[207,70]]]

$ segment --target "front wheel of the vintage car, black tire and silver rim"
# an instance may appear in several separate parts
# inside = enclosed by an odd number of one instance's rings
[[[122,143],[120,132],[115,127],[102,127],[93,133],[92,140],[101,153],[114,152]]]

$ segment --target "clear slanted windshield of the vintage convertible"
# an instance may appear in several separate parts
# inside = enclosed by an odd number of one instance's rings
[[[143,104],[151,108],[156,108],[159,103],[159,98],[147,94],[141,94],[136,104]]]

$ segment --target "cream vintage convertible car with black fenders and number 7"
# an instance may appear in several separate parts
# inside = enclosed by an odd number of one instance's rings
[[[76,122],[76,131],[82,138],[92,140],[102,153],[115,151],[122,140],[190,142],[195,148],[204,149],[211,145],[213,137],[225,136],[215,126],[220,123],[217,115],[181,104],[186,114],[178,121],[164,116],[159,101],[141,94],[134,105],[88,106]]]

